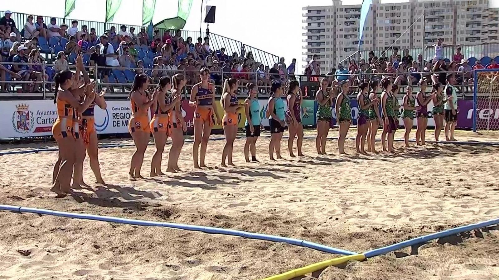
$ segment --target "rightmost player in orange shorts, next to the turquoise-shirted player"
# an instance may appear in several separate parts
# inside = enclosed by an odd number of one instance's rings
[[[234,165],[232,162],[232,149],[234,140],[238,134],[238,110],[243,108],[244,105],[239,104],[238,97],[236,96],[238,90],[238,80],[230,78],[225,80],[224,89],[220,103],[224,108],[224,118],[222,119],[222,126],[224,128],[225,145],[222,151],[221,166],[227,167],[225,159],[227,158],[229,165]]]

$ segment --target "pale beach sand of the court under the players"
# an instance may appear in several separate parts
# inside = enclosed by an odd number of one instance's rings
[[[352,131],[349,137],[354,136]],[[428,131],[427,139],[432,138]],[[456,138],[498,140],[495,134],[470,132]],[[336,140],[330,140],[327,150],[333,154],[317,156],[314,140],[304,140],[306,156],[290,158],[283,139],[286,159],[270,161],[268,138],[262,137],[257,143],[261,163],[255,164],[244,162],[244,141],[234,145],[238,167],[195,170],[192,144],[186,143],[179,161],[185,172],[135,182],[127,180],[134,148],[103,148],[101,170],[109,185],[92,183],[87,158],[84,178],[92,189],[62,199],[48,191],[57,152],[3,155],[0,204],[231,228],[360,253],[499,217],[499,147],[431,143],[398,155],[355,155],[354,142],[347,140],[349,155],[338,155]],[[224,142],[210,141],[209,166],[220,164]],[[396,142],[395,147],[402,145]],[[377,146],[380,150],[379,142]],[[153,152],[150,145],[144,176]],[[163,165],[167,158],[165,154]],[[329,267],[318,279],[498,279],[498,230],[433,241],[417,255],[405,248]],[[0,212],[0,236],[0,279],[256,280],[339,257],[239,237],[7,212]]]

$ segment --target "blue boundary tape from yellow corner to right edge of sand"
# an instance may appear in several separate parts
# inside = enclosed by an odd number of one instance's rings
[[[471,225],[467,225],[467,226],[462,226],[462,227],[458,227],[458,228],[453,228],[453,229],[449,229],[449,230],[445,230],[445,231],[441,231],[441,232],[437,232],[437,233],[432,233],[432,234],[428,234],[428,235],[417,237],[417,238],[413,238],[413,239],[410,239],[407,241],[395,243],[393,245],[389,245],[389,246],[382,247],[379,249],[367,251],[364,253],[364,255],[366,256],[366,258],[372,258],[372,257],[376,257],[379,255],[387,254],[387,253],[390,253],[392,251],[399,250],[399,249],[402,249],[405,247],[418,245],[418,244],[424,244],[424,243],[427,243],[428,241],[433,240],[433,239],[442,238],[442,237],[446,237],[446,236],[450,236],[450,235],[455,235],[458,233],[471,231],[471,230],[478,229],[478,228],[484,228],[484,227],[488,227],[488,226],[492,226],[492,225],[496,225],[496,224],[499,224],[499,218],[494,219],[494,220],[485,221],[485,222],[476,223],[476,224],[471,224]]]

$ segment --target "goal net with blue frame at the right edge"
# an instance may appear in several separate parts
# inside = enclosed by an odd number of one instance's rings
[[[499,69],[475,70],[473,131],[499,130]]]

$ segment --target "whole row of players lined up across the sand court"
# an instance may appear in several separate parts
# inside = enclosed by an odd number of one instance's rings
[[[98,160],[98,140],[94,127],[94,107],[106,108],[104,100],[105,91],[100,94],[95,92],[95,82],[91,82],[88,73],[83,66],[81,55],[76,61],[76,72],[61,71],[55,75],[54,103],[57,107],[58,118],[52,127],[54,139],[59,147],[59,156],[54,165],[52,175],[51,190],[57,197],[63,197],[70,193],[71,189],[80,188],[86,185],[83,182],[83,160],[86,153],[90,159],[90,167],[96,177],[97,183],[104,183],[100,174]],[[81,75],[80,75],[81,74]],[[82,77],[80,79],[80,76]],[[238,132],[238,112],[245,108],[246,114],[246,136],[244,154],[246,161],[255,161],[255,143],[260,136],[260,107],[256,97],[257,86],[248,84],[249,96],[244,104],[240,104],[237,97],[238,80],[227,79],[224,83],[221,105],[224,116],[220,116],[215,110],[215,86],[209,83],[210,71],[203,68],[200,71],[201,82],[194,85],[191,91],[189,106],[195,107],[194,112],[194,144],[193,161],[195,168],[207,167],[205,156],[208,140],[212,127],[217,123],[224,129],[226,143],[222,151],[221,166],[233,165],[233,144]],[[443,128],[444,115],[446,124],[446,139],[454,140],[454,128],[457,120],[457,95],[454,88],[454,75],[447,77],[448,84],[443,93],[443,86],[434,86],[434,92],[427,96],[425,93],[426,84],[421,82],[421,91],[413,96],[412,88],[408,86],[407,93],[403,98],[404,124],[406,125],[405,140],[409,145],[408,137],[412,129],[414,111],[418,118],[418,129],[416,131],[417,144],[425,144],[425,131],[427,125],[428,103],[433,100],[435,107],[432,112],[436,118],[435,138],[438,140],[440,131]],[[162,153],[168,137],[172,140],[167,164],[168,172],[181,171],[178,167],[178,158],[184,144],[184,132],[187,125],[181,113],[181,93],[186,85],[186,77],[183,74],[176,74],[170,79],[162,77],[158,86],[150,94],[149,78],[144,74],[138,74],[134,78],[130,91],[130,105],[132,116],[129,121],[129,133],[135,143],[136,150],[132,155],[129,178],[136,180],[143,178],[140,175],[144,153],[150,140],[151,133],[154,137],[156,151],[151,161],[150,176],[164,175],[161,171]],[[340,83],[341,91],[336,97],[327,89],[327,80],[321,81],[321,88],[317,91],[316,100],[318,102],[317,137],[316,148],[318,154],[326,154],[325,145],[329,129],[331,127],[332,113],[334,107],[338,116],[339,138],[338,150],[344,152],[344,142],[348,133],[352,115],[350,101],[348,97],[348,84]],[[382,146],[384,151],[394,152],[393,137],[398,118],[395,112],[399,112],[399,105],[396,102],[395,93],[398,91],[397,85],[392,85],[390,80],[382,80],[383,92],[381,98],[376,92],[380,88],[380,83],[371,81],[359,85],[360,93],[357,95],[359,104],[359,117],[357,122],[356,151],[366,153],[364,150],[367,140],[367,151],[377,153],[374,141],[380,124],[383,125]],[[269,158],[274,160],[282,158],[280,153],[280,142],[284,129],[287,125],[289,131],[288,150],[290,156],[294,157],[293,142],[296,138],[298,156],[303,156],[301,151],[303,141],[303,126],[301,124],[301,103],[302,96],[297,81],[292,81],[286,94],[286,104],[281,98],[284,94],[284,86],[279,82],[271,85],[271,95],[268,99],[268,113],[270,135]],[[336,101],[334,102],[334,99]],[[379,104],[381,103],[381,112]],[[416,106],[416,103],[418,104]],[[149,110],[152,110],[153,117],[149,121]],[[386,136],[388,135],[388,146]],[[201,146],[201,149],[200,149]],[[251,159],[249,154],[251,153]],[[198,161],[199,158],[199,161]],[[226,164],[227,161],[227,164]],[[71,184],[71,178],[73,182]]]

